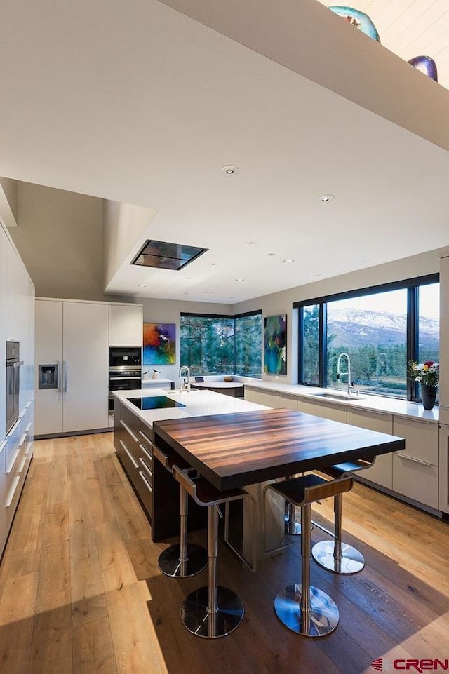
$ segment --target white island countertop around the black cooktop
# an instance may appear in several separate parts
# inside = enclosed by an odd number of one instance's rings
[[[133,391],[114,391],[114,396],[129,410],[134,412],[145,424],[152,426],[161,419],[182,419],[185,417],[203,417],[210,414],[232,414],[233,412],[253,412],[266,410],[264,405],[249,403],[242,398],[231,398],[215,391],[166,391],[165,389],[135,389]],[[140,410],[130,403],[128,398],[147,398],[164,396],[173,398],[185,407],[161,407],[156,410]]]

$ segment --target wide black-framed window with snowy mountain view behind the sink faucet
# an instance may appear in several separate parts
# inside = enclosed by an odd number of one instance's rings
[[[299,382],[347,387],[351,360],[354,389],[416,399],[408,360],[439,360],[438,274],[297,302],[300,309]],[[323,346],[321,346],[323,345]]]

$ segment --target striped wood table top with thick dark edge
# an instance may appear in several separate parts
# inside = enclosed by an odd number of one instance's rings
[[[304,412],[267,409],[154,422],[170,448],[220,490],[403,450],[403,438]]]

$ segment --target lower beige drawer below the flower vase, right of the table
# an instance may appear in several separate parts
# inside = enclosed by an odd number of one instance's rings
[[[438,468],[396,452],[393,457],[393,490],[431,508],[438,508]]]

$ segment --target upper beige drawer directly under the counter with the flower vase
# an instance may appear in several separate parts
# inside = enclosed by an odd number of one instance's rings
[[[438,466],[438,424],[393,417],[393,434],[406,439],[406,448],[398,454]]]

